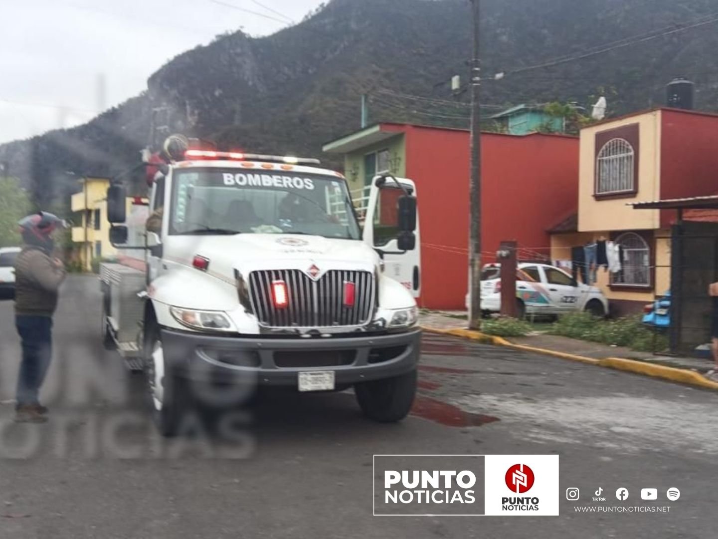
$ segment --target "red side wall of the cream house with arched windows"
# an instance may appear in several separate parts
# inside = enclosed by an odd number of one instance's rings
[[[718,194],[718,116],[661,111],[661,199]],[[675,210],[661,211],[670,226]]]

